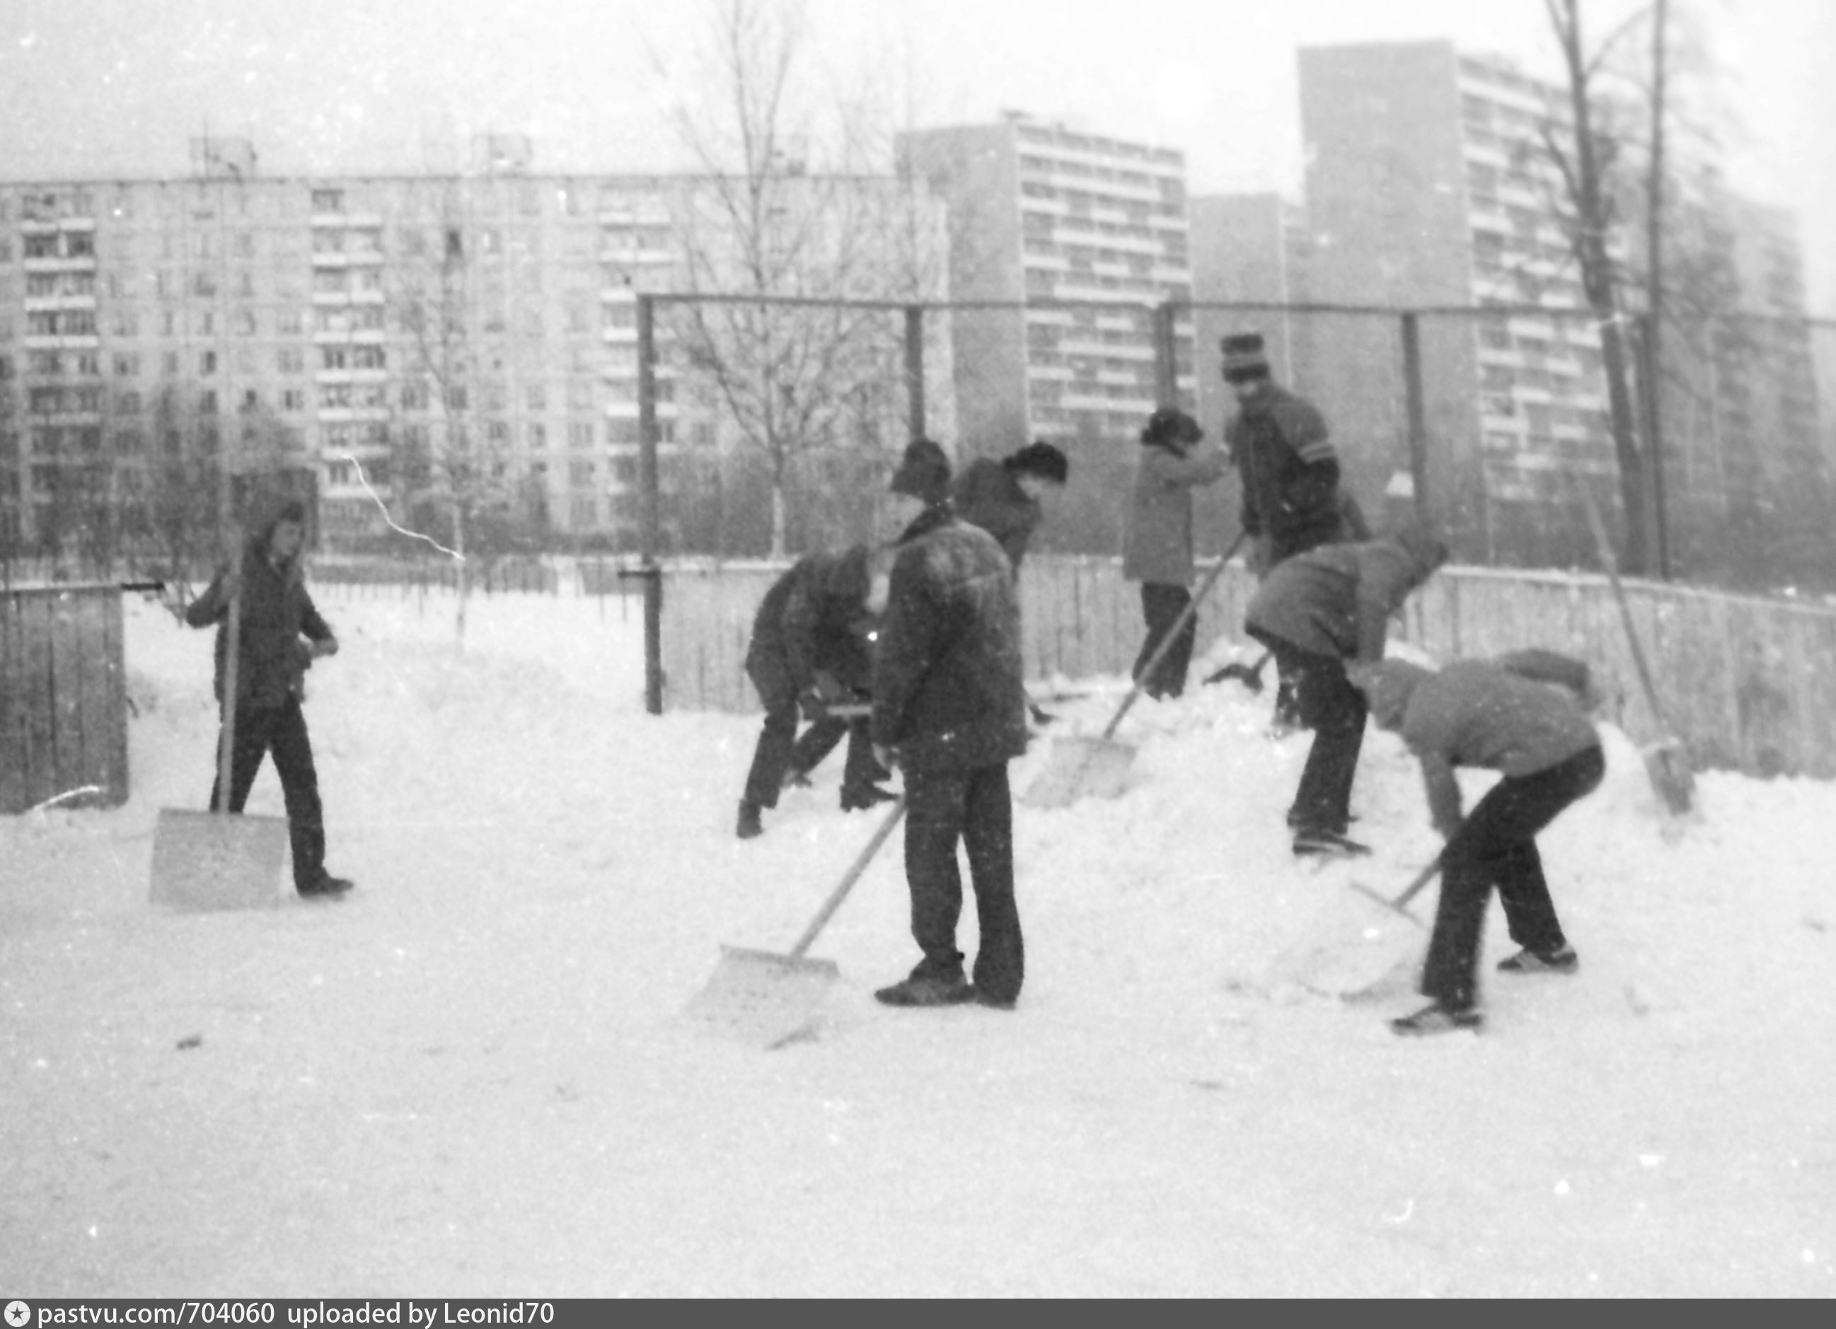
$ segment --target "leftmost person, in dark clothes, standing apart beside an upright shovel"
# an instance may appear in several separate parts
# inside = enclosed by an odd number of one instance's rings
[[[261,771],[274,754],[286,800],[286,835],[294,855],[294,888],[305,898],[334,898],[351,888],[347,877],[325,870],[325,808],[307,732],[305,676],[312,661],[338,653],[338,637],[319,617],[299,569],[307,538],[307,510],[299,499],[279,503],[259,521],[241,558],[217,573],[185,608],[193,628],[217,624],[217,701],[224,699],[230,655],[230,602],[241,598],[237,630],[235,745],[230,753],[230,811],[242,811]],[[218,740],[220,742],[220,740]],[[218,784],[211,784],[211,808]]]

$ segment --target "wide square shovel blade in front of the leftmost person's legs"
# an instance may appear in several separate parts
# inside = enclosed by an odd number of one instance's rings
[[[286,859],[286,819],[162,808],[152,830],[154,905],[268,909]]]

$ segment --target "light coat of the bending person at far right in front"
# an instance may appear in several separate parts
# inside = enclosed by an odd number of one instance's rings
[[[1551,674],[1557,661],[1573,668]],[[1370,672],[1366,692],[1377,725],[1401,734],[1421,762],[1434,824],[1450,832],[1460,826],[1456,765],[1528,776],[1599,747],[1575,696],[1548,687],[1572,687],[1573,670],[1584,692],[1586,664],[1553,652],[1454,661],[1439,672],[1384,661]]]

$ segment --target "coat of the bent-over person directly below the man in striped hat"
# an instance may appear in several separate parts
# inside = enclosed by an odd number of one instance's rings
[[[1445,549],[1430,540],[1322,545],[1278,564],[1250,597],[1243,626],[1315,655],[1375,664],[1390,615],[1434,575]]]

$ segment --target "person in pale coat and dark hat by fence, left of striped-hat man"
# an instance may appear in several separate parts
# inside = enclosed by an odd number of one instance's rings
[[[1215,448],[1199,448],[1204,430],[1184,411],[1162,406],[1142,428],[1135,496],[1122,540],[1122,576],[1142,586],[1142,617],[1148,639],[1135,657],[1133,677],[1149,698],[1177,698],[1186,690],[1186,668],[1197,642],[1192,604],[1192,490],[1214,485],[1225,474]],[[1179,637],[1160,657],[1153,677],[1142,677],[1160,642],[1184,615]]]

